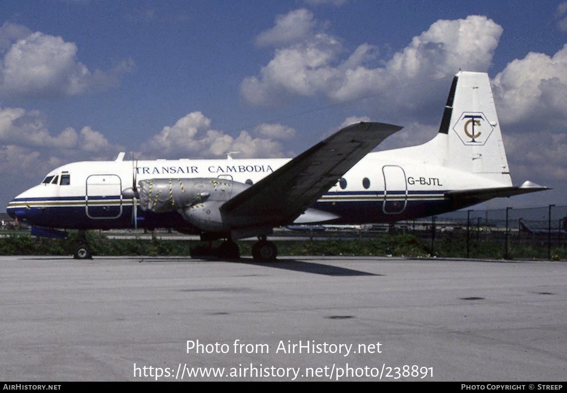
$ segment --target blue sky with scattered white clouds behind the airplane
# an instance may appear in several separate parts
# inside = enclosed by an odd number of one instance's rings
[[[352,120],[416,145],[459,68],[492,79],[514,183],[554,188],[505,204],[567,204],[567,2],[19,0],[0,26],[4,206],[119,151],[291,157]]]

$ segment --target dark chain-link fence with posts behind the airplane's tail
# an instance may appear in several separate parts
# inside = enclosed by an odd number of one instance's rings
[[[455,256],[567,257],[567,206],[460,210],[399,222],[389,230],[410,231],[430,244],[431,253],[447,253],[452,243]]]

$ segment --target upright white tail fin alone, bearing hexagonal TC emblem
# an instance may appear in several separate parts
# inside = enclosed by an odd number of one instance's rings
[[[439,134],[426,145],[435,149],[443,166],[511,185],[488,74],[455,75]]]

